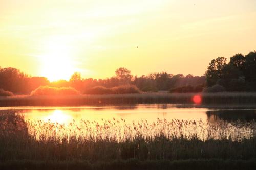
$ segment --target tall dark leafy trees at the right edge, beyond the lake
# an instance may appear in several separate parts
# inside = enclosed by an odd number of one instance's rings
[[[209,91],[256,91],[256,51],[211,60],[205,76]]]

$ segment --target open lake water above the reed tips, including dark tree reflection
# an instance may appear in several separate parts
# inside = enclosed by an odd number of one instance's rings
[[[236,120],[251,121],[256,119],[256,106],[250,107],[198,107],[196,105],[150,104],[134,106],[104,107],[4,107],[2,110],[21,110],[25,119],[58,122],[83,120],[125,119],[126,122],[137,122],[141,119],[154,122],[159,119],[202,120],[215,123],[218,120],[233,122]]]

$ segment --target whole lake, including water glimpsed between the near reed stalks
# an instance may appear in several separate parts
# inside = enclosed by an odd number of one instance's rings
[[[139,125],[142,124],[148,127],[150,125],[157,125],[158,129],[152,129],[151,131],[156,133],[169,133],[166,125],[161,121],[172,122],[190,122],[190,124],[199,123],[195,129],[190,129],[188,126],[183,126],[183,132],[185,134],[195,133],[202,134],[200,138],[204,139],[209,133],[218,132],[230,135],[230,138],[243,138],[251,137],[255,135],[255,123],[256,108],[254,106],[198,106],[198,105],[180,105],[180,104],[148,104],[148,105],[133,105],[133,106],[94,106],[94,107],[2,107],[1,110],[19,110],[24,116],[27,122],[31,122],[34,129],[42,129],[41,124],[44,122],[53,123],[57,125],[65,126],[66,128],[72,124],[77,127],[75,131],[81,129],[82,123],[93,123],[103,125],[104,123],[111,123],[116,126],[117,122],[120,123],[124,120],[125,126],[127,125]],[[121,121],[122,120],[122,121]],[[112,121],[112,122],[111,122]],[[116,122],[117,121],[117,122]],[[146,122],[143,122],[146,121]],[[253,124],[248,124],[248,123]],[[38,123],[40,127],[38,126]],[[116,124],[115,124],[116,123]],[[145,124],[146,123],[146,124]],[[182,123],[181,123],[182,124]],[[170,124],[168,124],[170,125]],[[83,126],[82,126],[83,127]],[[116,128],[120,128],[118,126]],[[138,127],[134,127],[135,129]],[[172,125],[173,129],[174,126]],[[59,129],[59,127],[57,128]],[[84,129],[84,127],[83,127]],[[161,129],[161,130],[159,130]],[[210,131],[209,131],[210,129]],[[216,132],[212,129],[217,129]],[[46,129],[44,129],[46,130]],[[35,132],[30,128],[30,132],[37,134],[45,133],[44,130],[37,130]],[[239,130],[239,132],[237,132]],[[46,130],[47,131],[47,130]],[[70,130],[71,131],[71,130]],[[88,129],[87,129],[88,131]],[[97,129],[95,126],[90,128],[90,131]],[[146,133],[147,129],[144,129],[141,133]],[[161,132],[160,132],[161,131]],[[178,132],[177,129],[175,132]],[[193,132],[191,132],[193,131]],[[195,132],[194,132],[195,131]],[[124,130],[119,131],[119,136]],[[63,133],[63,132],[61,132]],[[65,131],[67,133],[67,131]],[[85,132],[83,132],[85,133]],[[84,135],[84,134],[82,134]],[[151,134],[152,135],[152,134]],[[176,134],[179,135],[179,134]],[[61,136],[61,135],[60,135]],[[121,137],[120,137],[121,138]],[[218,137],[216,137],[218,138]]]

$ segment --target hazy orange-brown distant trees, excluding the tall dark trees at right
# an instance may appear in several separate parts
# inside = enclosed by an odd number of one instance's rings
[[[204,82],[205,76],[173,75],[167,72],[133,76],[131,71],[126,68],[118,68],[114,76],[106,79],[83,79],[79,72],[75,72],[69,81],[50,82],[46,77],[31,77],[16,68],[0,68],[0,89],[14,94],[30,94],[39,86],[73,87],[83,93],[95,86],[112,88],[130,84],[137,86],[141,91],[159,91],[181,86],[197,86],[204,84]]]

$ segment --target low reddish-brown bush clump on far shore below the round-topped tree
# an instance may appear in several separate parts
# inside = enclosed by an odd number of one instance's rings
[[[131,94],[131,93],[140,93],[140,90],[138,89],[138,87],[134,85],[123,85],[123,86],[117,86],[112,88],[95,86],[84,92],[84,94]]]

